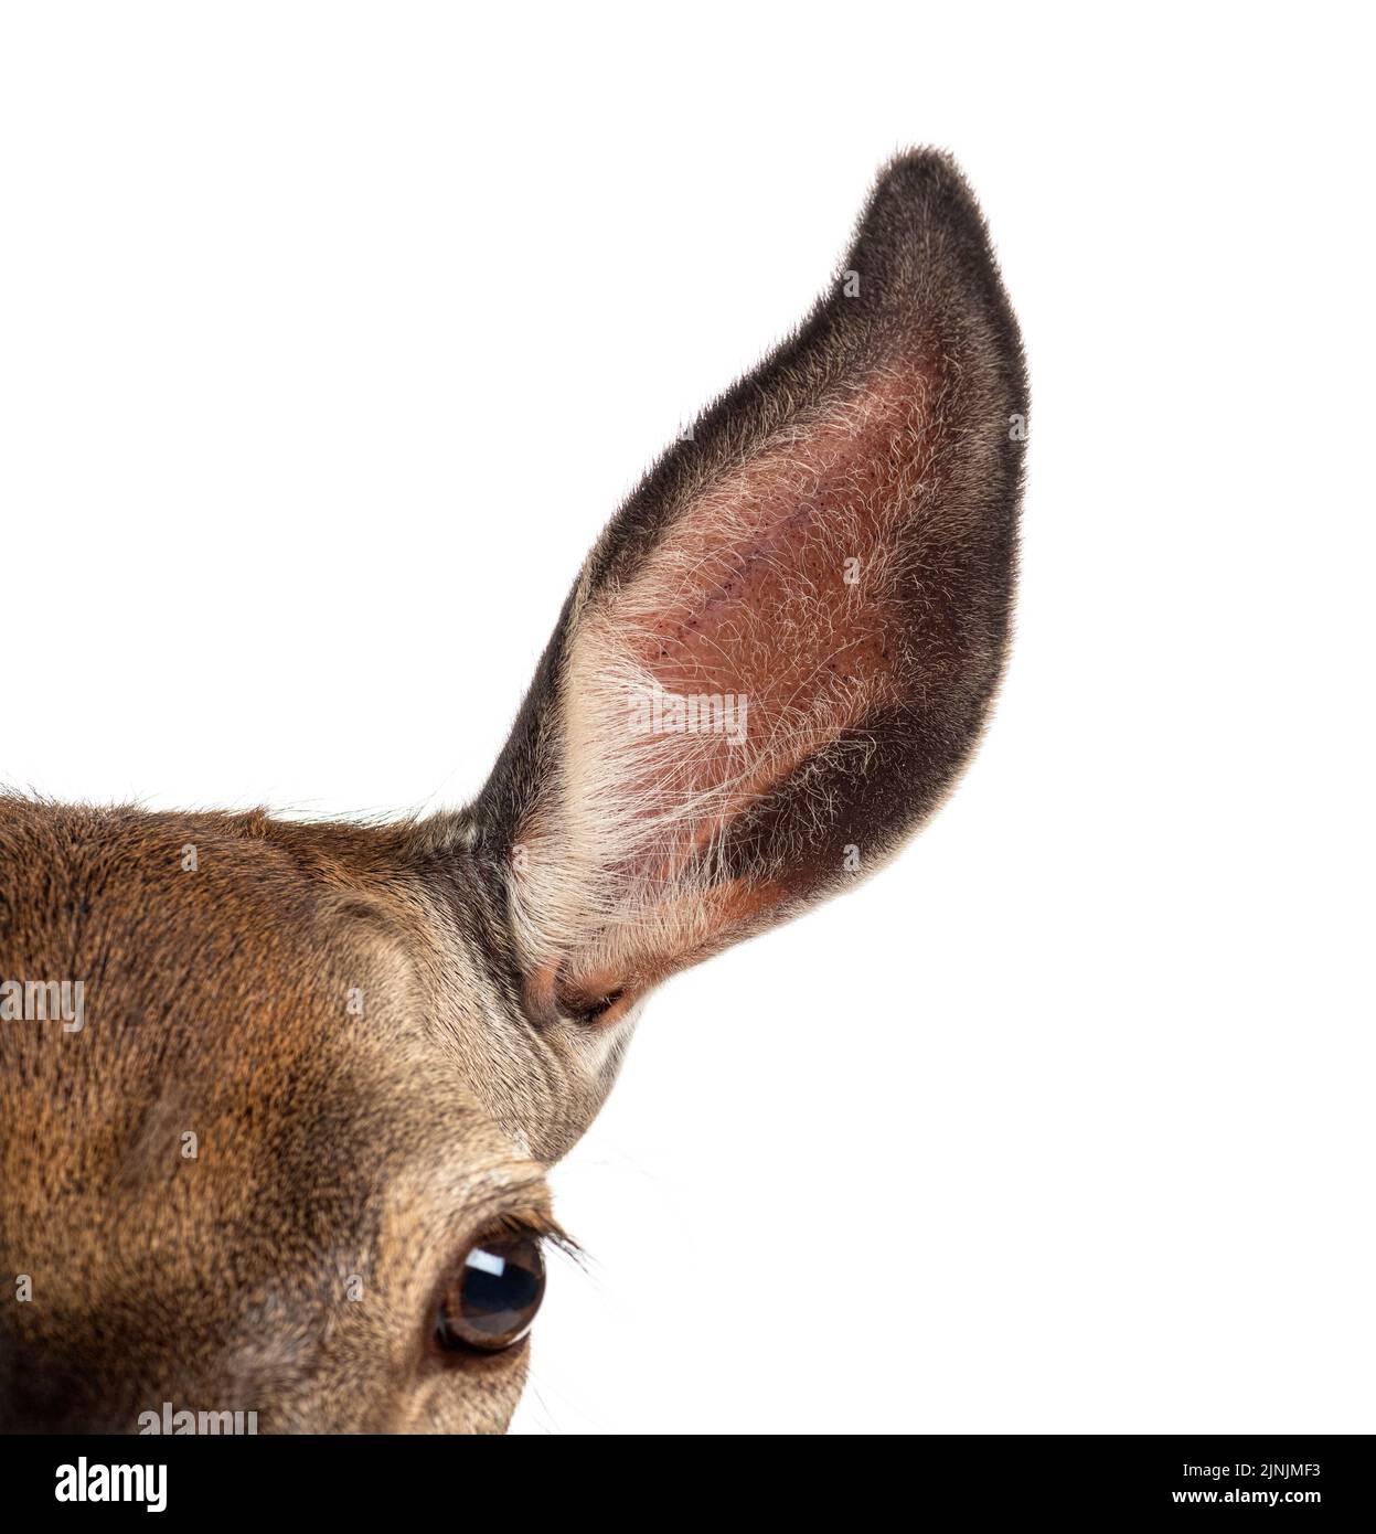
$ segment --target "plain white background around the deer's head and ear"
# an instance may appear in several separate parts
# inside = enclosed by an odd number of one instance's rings
[[[881,160],[950,147],[991,221],[988,741],[650,1005],[520,1428],[1376,1428],[1348,9],[3,12],[0,778],[52,796],[460,802]]]

